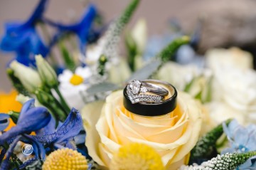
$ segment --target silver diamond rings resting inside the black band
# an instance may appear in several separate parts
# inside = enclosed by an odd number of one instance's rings
[[[154,95],[145,94],[150,92]],[[169,92],[164,87],[146,81],[132,80],[127,85],[127,95],[131,102],[161,102]]]

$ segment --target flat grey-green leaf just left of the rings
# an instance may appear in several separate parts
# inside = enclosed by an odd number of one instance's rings
[[[121,87],[119,87],[116,84],[103,82],[97,85],[93,85],[92,87],[89,87],[86,90],[86,92],[88,93],[88,95],[94,95],[94,94],[97,94],[98,92],[109,92],[109,91],[118,90],[120,88]]]

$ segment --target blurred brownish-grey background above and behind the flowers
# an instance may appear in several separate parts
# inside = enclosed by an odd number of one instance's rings
[[[105,23],[117,17],[129,0],[91,0],[104,16]],[[88,1],[49,1],[45,16],[53,21],[78,21]],[[6,21],[25,21],[33,12],[37,0],[0,0],[0,36]],[[176,18],[185,33],[191,34],[201,21],[201,41],[198,53],[208,48],[238,46],[255,55],[256,1],[254,0],[142,0],[128,29],[139,18],[145,18],[148,36],[169,31],[170,20]],[[8,92],[11,84],[6,76],[6,65],[14,53],[0,52],[0,91]]]

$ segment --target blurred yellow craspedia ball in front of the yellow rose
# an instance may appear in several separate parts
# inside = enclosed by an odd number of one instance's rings
[[[114,154],[110,163],[111,170],[163,170],[161,156],[146,144],[124,145]]]

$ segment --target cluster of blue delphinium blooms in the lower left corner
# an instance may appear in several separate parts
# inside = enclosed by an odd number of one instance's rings
[[[10,168],[9,158],[14,154],[14,147],[18,141],[31,144],[35,154],[32,159],[21,164],[19,169],[23,169],[38,159],[45,159],[47,151],[63,147],[76,149],[74,137],[82,128],[82,117],[78,110],[73,108],[65,122],[60,122],[56,129],[55,119],[48,110],[45,107],[35,107],[34,102],[33,99],[28,100],[21,109],[16,126],[0,136],[1,146],[9,144],[9,147],[4,147],[0,153],[0,169]],[[0,123],[1,117],[2,119],[7,118],[0,115]],[[32,131],[36,131],[35,136],[28,134]]]

